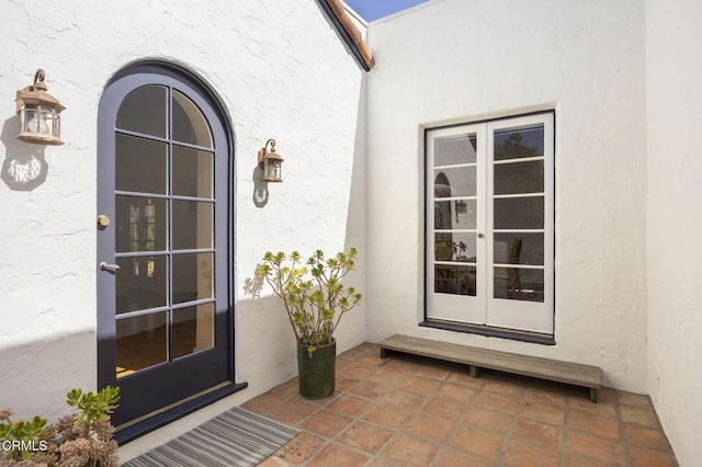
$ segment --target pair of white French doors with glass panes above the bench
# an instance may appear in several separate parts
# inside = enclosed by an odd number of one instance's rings
[[[427,318],[553,334],[553,113],[427,132]]]

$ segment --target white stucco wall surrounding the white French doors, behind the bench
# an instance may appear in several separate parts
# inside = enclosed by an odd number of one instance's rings
[[[434,0],[369,26],[367,330],[581,362],[646,391],[644,5]],[[556,111],[555,346],[419,328],[422,132]],[[388,273],[392,271],[392,273]]]

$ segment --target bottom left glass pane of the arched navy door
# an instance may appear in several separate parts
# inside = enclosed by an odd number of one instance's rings
[[[117,378],[168,361],[166,326],[163,311],[117,320]]]

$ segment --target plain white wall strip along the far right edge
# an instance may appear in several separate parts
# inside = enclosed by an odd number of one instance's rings
[[[648,388],[681,466],[702,458],[702,4],[646,2]]]

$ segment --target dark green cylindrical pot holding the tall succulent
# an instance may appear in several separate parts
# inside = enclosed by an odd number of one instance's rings
[[[333,395],[337,363],[337,341],[318,346],[312,354],[297,342],[299,395],[305,399],[324,399]]]

